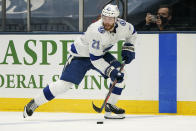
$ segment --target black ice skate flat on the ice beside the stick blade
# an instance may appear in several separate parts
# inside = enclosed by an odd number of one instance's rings
[[[114,113],[114,114],[112,114]],[[125,110],[118,108],[116,105],[106,103],[105,105],[105,119],[124,119]]]

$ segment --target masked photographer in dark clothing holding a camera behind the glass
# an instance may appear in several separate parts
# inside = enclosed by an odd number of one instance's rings
[[[157,15],[147,13],[146,23],[143,30],[146,31],[172,31],[175,28],[171,25],[172,9],[168,5],[161,5]]]

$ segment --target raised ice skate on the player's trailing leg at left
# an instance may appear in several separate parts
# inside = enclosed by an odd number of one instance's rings
[[[25,107],[23,112],[23,117],[26,118],[28,116],[32,116],[35,109],[38,105],[35,103],[34,99],[31,100]]]

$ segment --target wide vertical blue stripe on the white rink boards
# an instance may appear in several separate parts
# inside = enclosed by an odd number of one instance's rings
[[[159,34],[159,112],[177,112],[177,38]]]

